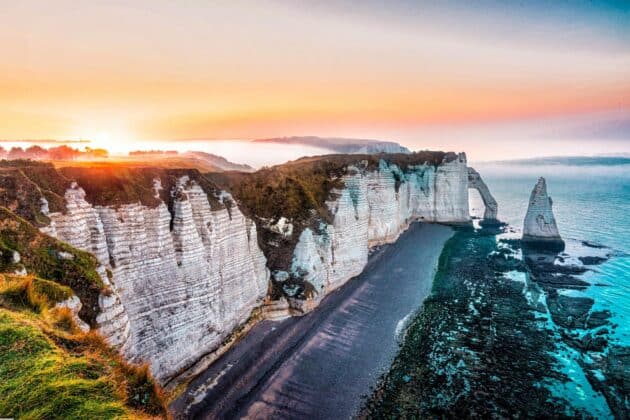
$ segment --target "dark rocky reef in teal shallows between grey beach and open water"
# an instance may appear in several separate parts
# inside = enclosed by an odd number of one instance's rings
[[[600,287],[583,275],[610,250],[576,241],[575,255],[558,253],[504,231],[460,229],[447,243],[362,417],[628,418],[630,351],[609,343],[610,312],[573,294]]]

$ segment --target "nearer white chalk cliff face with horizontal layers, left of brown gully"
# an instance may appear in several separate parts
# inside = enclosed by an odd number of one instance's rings
[[[160,181],[155,181],[158,197]],[[74,184],[67,211],[44,228],[101,263],[112,293],[102,295],[100,331],[132,361],[148,361],[160,381],[214,350],[267,293],[269,274],[256,226],[231,204],[212,210],[186,177],[165,203],[93,206]],[[171,229],[172,223],[172,229]]]

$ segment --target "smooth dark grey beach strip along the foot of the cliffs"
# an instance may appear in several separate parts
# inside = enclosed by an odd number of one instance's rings
[[[430,293],[452,233],[413,224],[313,312],[254,326],[171,409],[179,418],[351,418],[396,356],[396,332]]]

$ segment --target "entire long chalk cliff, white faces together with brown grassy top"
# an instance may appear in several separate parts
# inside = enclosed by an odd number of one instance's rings
[[[412,221],[469,221],[468,188],[482,182],[470,184],[464,154],[443,152],[307,158],[254,174],[27,169],[5,175],[28,194],[0,201],[96,257],[109,290],[82,298],[83,312],[162,383],[205,363],[262,305],[270,270],[263,312],[306,312]]]

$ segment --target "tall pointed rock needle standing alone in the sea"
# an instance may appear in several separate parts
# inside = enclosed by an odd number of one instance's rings
[[[553,216],[553,201],[547,195],[545,178],[538,178],[529,198],[529,207],[523,225],[523,244],[553,251],[562,251],[564,241],[558,232]]]

